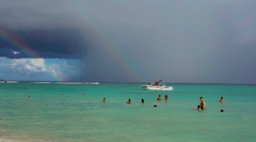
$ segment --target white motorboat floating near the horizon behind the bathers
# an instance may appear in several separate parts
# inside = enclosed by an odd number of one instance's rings
[[[158,82],[155,82],[155,83],[149,83],[149,85],[141,85],[143,88],[145,89],[149,89],[149,90],[174,90],[173,87],[171,86],[165,86],[164,85],[161,85],[160,82],[162,80],[159,80]]]

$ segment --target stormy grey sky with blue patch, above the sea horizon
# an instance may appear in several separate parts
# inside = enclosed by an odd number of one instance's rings
[[[0,79],[256,83],[255,0],[0,0]]]

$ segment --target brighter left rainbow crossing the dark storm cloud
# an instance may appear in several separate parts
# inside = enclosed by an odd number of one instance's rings
[[[32,50],[24,41],[20,40],[16,35],[9,34],[6,30],[0,29],[0,38],[8,43],[14,51],[22,52],[24,58],[41,58],[36,51]],[[64,81],[52,71],[46,68],[46,71],[53,77],[54,81]]]

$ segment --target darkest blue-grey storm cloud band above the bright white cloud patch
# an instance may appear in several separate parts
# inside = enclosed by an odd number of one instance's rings
[[[88,45],[78,29],[18,29],[5,30],[5,33],[8,37],[0,38],[2,57],[82,59],[87,52]]]

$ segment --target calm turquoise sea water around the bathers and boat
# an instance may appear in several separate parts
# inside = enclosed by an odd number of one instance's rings
[[[146,83],[0,83],[0,142],[256,141],[256,85],[140,85]],[[200,97],[206,109],[192,110]]]

